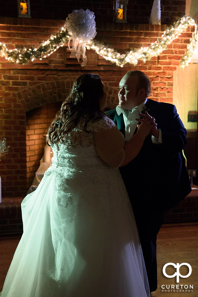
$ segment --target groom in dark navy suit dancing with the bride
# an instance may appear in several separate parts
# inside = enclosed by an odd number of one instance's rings
[[[182,155],[187,144],[186,129],[174,105],[147,99],[150,80],[143,72],[128,71],[119,87],[119,105],[106,113],[125,135],[125,141],[136,133],[139,113],[147,111],[158,124],[146,137],[138,156],[120,167],[152,292],[157,289],[156,239],[164,214],[191,192]]]

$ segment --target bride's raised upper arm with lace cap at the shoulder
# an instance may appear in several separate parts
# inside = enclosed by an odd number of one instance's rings
[[[95,147],[100,158],[110,166],[120,167],[125,154],[124,136],[109,118],[97,123],[93,132],[95,132]]]

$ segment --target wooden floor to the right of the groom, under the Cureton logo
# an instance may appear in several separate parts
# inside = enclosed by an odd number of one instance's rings
[[[158,262],[158,289],[152,292],[154,297],[198,297],[198,223],[170,224],[162,225],[157,239],[157,262]],[[188,263],[192,267],[192,273],[188,278],[176,277],[167,278],[163,275],[162,269],[166,263]],[[173,266],[166,268],[166,273],[173,275],[175,273]],[[180,274],[187,275],[187,266],[180,267]],[[181,292],[162,292],[162,285],[179,285]],[[188,285],[188,289],[181,289],[181,285]],[[193,291],[188,292],[189,285],[193,285]],[[187,290],[187,292],[186,292]],[[192,289],[190,289],[192,290]]]

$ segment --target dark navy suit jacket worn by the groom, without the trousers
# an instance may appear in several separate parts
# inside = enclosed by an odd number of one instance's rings
[[[131,204],[144,209],[174,207],[191,192],[182,150],[187,144],[186,129],[174,105],[148,99],[146,108],[162,132],[162,144],[154,144],[151,135],[136,158],[120,168]],[[125,135],[123,114],[106,112]],[[136,131],[135,131],[136,133]]]

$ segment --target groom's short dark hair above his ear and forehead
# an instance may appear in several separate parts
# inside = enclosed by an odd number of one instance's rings
[[[128,71],[125,75],[136,76],[138,78],[136,94],[140,89],[144,88],[147,97],[150,95],[150,79],[146,74],[144,74],[144,72],[139,70],[131,70],[131,71]]]

